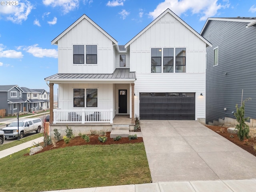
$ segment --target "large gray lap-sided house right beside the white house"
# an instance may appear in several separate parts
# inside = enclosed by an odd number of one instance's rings
[[[256,126],[256,18],[208,18],[201,33],[206,48],[206,124],[236,124],[242,99]]]

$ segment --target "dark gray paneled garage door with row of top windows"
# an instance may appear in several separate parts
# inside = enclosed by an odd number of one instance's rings
[[[140,93],[142,120],[195,120],[195,93]]]

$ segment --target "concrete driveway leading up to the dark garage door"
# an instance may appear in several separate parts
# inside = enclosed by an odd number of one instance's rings
[[[141,120],[153,182],[256,178],[256,157],[197,121]]]

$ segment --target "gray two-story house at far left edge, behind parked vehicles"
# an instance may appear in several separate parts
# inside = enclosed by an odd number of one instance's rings
[[[0,109],[6,109],[6,114],[24,112],[26,98],[22,98],[23,90],[18,85],[0,85]]]

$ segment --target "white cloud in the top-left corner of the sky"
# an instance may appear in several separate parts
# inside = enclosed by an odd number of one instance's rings
[[[6,19],[21,24],[27,20],[34,7],[27,0],[20,0],[16,6],[0,6],[0,14],[6,15]]]

